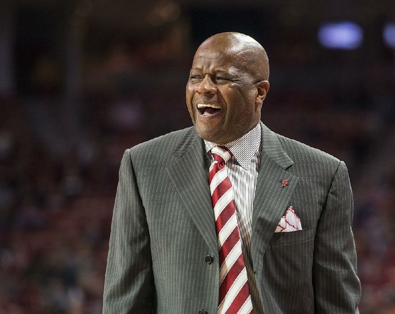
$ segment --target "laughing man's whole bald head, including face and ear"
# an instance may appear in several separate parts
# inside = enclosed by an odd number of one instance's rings
[[[268,78],[268,56],[255,39],[240,33],[206,39],[196,51],[186,88],[200,137],[223,145],[256,127]]]

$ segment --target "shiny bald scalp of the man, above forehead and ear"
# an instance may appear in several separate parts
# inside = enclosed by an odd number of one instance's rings
[[[204,40],[197,49],[197,55],[204,50],[234,55],[238,65],[244,67],[256,80],[269,79],[268,55],[252,37],[236,32],[219,33]]]

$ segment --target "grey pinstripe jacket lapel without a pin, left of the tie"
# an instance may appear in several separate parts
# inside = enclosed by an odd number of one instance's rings
[[[214,214],[208,187],[203,144],[194,127],[188,129],[174,150],[179,159],[167,172],[197,229],[213,253],[218,254]]]

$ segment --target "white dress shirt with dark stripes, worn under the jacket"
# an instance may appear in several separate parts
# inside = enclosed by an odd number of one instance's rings
[[[204,140],[206,149],[207,171],[213,162],[210,150],[217,146]],[[242,252],[247,270],[251,300],[255,314],[263,314],[262,304],[256,287],[255,276],[251,266],[251,223],[252,205],[258,178],[261,155],[261,127],[258,125],[239,139],[225,144],[233,154],[226,163],[228,176],[232,182],[236,207],[237,225],[242,241]]]

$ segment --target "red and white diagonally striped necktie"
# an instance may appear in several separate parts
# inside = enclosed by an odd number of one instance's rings
[[[211,149],[214,161],[209,185],[219,250],[219,300],[217,314],[253,313],[241,239],[237,227],[233,188],[225,163],[232,153],[225,146]]]

